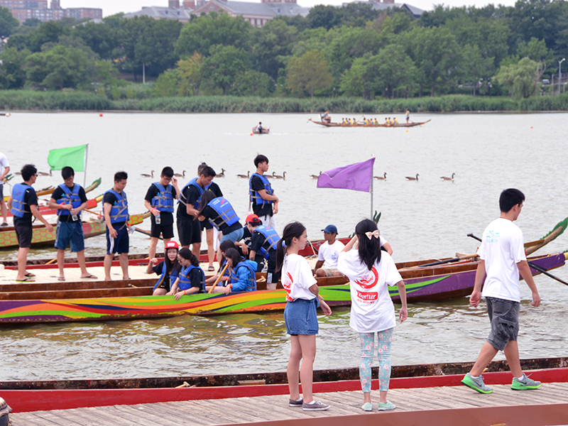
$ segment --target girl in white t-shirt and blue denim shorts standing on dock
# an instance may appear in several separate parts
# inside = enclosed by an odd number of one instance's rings
[[[286,290],[287,302],[284,321],[292,343],[286,368],[290,388],[289,405],[302,407],[305,411],[321,411],[327,410],[329,405],[316,402],[312,396],[318,302],[325,315],[330,315],[332,310],[318,294],[317,281],[307,260],[298,255],[298,251],[304,249],[306,244],[307,233],[304,225],[300,222],[286,225],[276,249],[276,271],[282,269],[282,285]],[[300,398],[298,370],[303,398]]]

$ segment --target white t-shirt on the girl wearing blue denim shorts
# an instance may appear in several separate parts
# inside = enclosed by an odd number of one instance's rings
[[[315,294],[310,291],[317,280],[312,274],[312,268],[307,260],[297,254],[284,256],[282,266],[282,286],[286,290],[286,301],[293,302],[296,299],[312,300]]]

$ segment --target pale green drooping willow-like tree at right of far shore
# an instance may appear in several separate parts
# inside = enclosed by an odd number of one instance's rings
[[[518,64],[504,65],[495,76],[514,99],[528,98],[537,92],[537,83],[542,76],[542,64],[530,58],[521,59]]]

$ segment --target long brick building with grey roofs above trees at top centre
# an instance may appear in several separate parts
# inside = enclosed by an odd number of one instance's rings
[[[249,21],[252,26],[261,28],[275,16],[307,16],[309,11],[310,9],[299,6],[296,0],[261,0],[261,3],[232,0],[184,0],[182,2],[180,0],[168,0],[168,7],[143,7],[141,11],[126,13],[124,18],[150,16],[155,19],[177,19],[187,22],[191,15],[200,16],[202,13],[217,12],[227,13],[233,18],[241,16],[245,21]]]

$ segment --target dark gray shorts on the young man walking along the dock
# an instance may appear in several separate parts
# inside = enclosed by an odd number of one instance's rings
[[[498,351],[502,351],[510,340],[517,341],[520,303],[497,297],[486,297],[485,300],[491,321],[491,332],[487,342]]]

